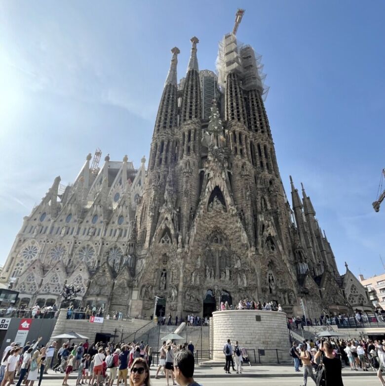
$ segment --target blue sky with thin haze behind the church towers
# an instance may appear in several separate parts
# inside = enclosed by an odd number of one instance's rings
[[[148,158],[177,45],[200,69],[246,9],[237,37],[263,55],[281,177],[304,183],[341,273],[384,271],[385,204],[372,209],[385,167],[383,1],[1,1],[0,263],[23,216],[86,155]]]

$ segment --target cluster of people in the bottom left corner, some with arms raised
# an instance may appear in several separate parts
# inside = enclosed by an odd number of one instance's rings
[[[48,350],[52,347],[52,344],[46,344],[38,348],[41,339],[32,343],[27,342],[24,347],[20,347],[15,342],[5,347],[1,357],[1,386],[14,384],[15,374],[19,375],[16,386],[20,386],[24,380],[27,386],[33,386],[35,381],[39,381],[38,385],[41,385],[43,375],[47,373],[46,362],[51,359],[48,356]]]

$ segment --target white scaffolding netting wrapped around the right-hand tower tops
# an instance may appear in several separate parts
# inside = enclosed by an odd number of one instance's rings
[[[269,87],[264,83],[266,74],[261,60],[262,55],[256,53],[251,45],[240,43],[231,33],[225,35],[219,43],[216,61],[219,86],[224,88],[228,74],[235,73],[243,89],[258,89],[265,100]]]

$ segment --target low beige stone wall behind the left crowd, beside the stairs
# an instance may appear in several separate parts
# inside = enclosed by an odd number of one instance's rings
[[[89,342],[92,343],[95,341],[96,334],[115,334],[117,329],[119,336],[115,340],[120,339],[120,333],[123,330],[123,338],[127,335],[134,333],[135,331],[141,329],[141,333],[145,333],[150,328],[154,327],[154,323],[149,323],[149,320],[143,319],[128,319],[128,320],[112,320],[104,319],[103,323],[91,323],[89,320],[76,320],[76,319],[67,319],[67,312],[65,309],[61,310],[59,317],[57,319],[55,329],[53,330],[52,337],[68,333],[76,332],[77,334],[84,335],[89,338]],[[143,327],[143,328],[142,328]],[[111,338],[111,341],[114,341],[114,338]],[[79,342],[84,342],[84,340],[72,340],[71,343],[75,344]]]

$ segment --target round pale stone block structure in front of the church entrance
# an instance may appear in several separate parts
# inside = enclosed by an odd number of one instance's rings
[[[251,362],[258,363],[260,358],[261,363],[277,363],[277,354],[279,361],[290,359],[284,312],[246,309],[216,311],[213,312],[212,322],[215,361],[225,361],[223,347],[228,339],[232,345],[238,341],[240,347],[245,347]]]

